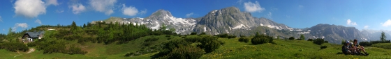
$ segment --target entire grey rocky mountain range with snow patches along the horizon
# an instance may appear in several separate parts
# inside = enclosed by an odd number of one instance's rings
[[[158,29],[165,25],[167,28],[175,28],[175,33],[182,35],[191,32],[205,32],[210,35],[228,33],[230,35],[254,35],[255,32],[271,35],[274,37],[288,38],[304,35],[306,39],[323,38],[330,43],[339,44],[342,40],[371,41],[380,40],[382,31],[355,27],[337,26],[330,24],[318,24],[311,28],[291,28],[285,24],[279,24],[266,18],[253,17],[250,12],[241,12],[239,8],[228,7],[221,10],[212,10],[204,17],[178,18],[171,15],[168,10],[157,10],[149,17],[121,18],[110,17],[94,22],[119,22],[121,24],[144,24],[145,26]],[[391,37],[391,31],[383,31],[387,37]],[[389,40],[389,39],[387,39]]]

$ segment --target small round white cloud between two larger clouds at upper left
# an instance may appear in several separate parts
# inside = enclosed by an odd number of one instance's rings
[[[81,3],[73,4],[70,7],[72,8],[73,14],[79,14],[80,12],[83,12],[86,10],[86,8]]]

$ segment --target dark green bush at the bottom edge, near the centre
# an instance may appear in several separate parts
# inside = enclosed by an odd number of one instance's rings
[[[168,59],[198,59],[204,53],[205,53],[205,51],[203,51],[200,48],[192,47],[192,46],[186,46],[186,47],[179,47],[179,48],[173,49],[172,52],[168,53],[167,56],[164,56],[162,58],[168,58]]]

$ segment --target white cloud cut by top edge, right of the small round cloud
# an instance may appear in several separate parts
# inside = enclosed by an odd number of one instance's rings
[[[89,6],[98,12],[105,12],[105,15],[113,13],[114,3],[117,3],[117,0],[89,0]]]

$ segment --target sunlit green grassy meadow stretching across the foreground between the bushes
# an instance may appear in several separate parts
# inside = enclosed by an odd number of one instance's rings
[[[195,35],[194,35],[195,36]],[[146,37],[140,37],[137,40],[132,40],[126,44],[97,44],[97,43],[86,43],[84,45],[80,45],[80,47],[84,47],[84,50],[88,51],[85,55],[75,54],[68,55],[64,53],[51,53],[51,54],[43,54],[43,51],[34,51],[32,53],[26,52],[10,52],[4,49],[0,49],[1,58],[132,58],[132,59],[145,59],[151,58],[155,53],[147,53],[142,54],[140,56],[131,56],[124,57],[124,55],[128,52],[139,51],[143,47],[142,43],[149,37],[158,37],[159,40],[153,42],[154,44],[150,45],[152,47],[154,45],[161,44],[161,42],[167,42],[167,38],[165,35],[149,35]],[[178,36],[172,36],[174,38],[181,38]],[[322,45],[327,46],[326,49],[320,49],[320,45],[313,44],[310,41],[306,40],[274,40],[276,44],[258,44],[253,45],[251,42],[244,43],[238,42],[238,38],[236,39],[228,39],[228,38],[219,38],[225,42],[222,44],[219,49],[213,51],[212,53],[206,53],[201,58],[391,58],[391,50],[383,49],[377,47],[367,47],[366,50],[370,53],[369,56],[353,56],[353,55],[344,55],[341,53],[341,45],[339,44],[329,44],[325,43]],[[74,41],[76,42],[76,41]],[[77,44],[77,43],[74,43]],[[34,48],[34,47],[30,47]],[[19,55],[19,56],[18,56]]]

